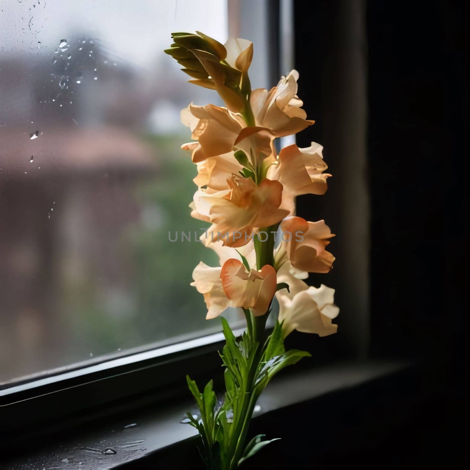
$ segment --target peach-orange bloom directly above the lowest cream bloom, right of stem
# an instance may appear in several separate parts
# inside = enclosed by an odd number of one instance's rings
[[[289,217],[281,223],[282,242],[274,256],[275,266],[290,259],[290,263],[301,271],[328,273],[335,257],[326,251],[331,233],[324,220],[307,222],[300,217]]]

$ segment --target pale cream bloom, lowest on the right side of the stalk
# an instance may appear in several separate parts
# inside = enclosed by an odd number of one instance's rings
[[[286,282],[290,286],[290,292],[287,289],[276,292],[284,337],[294,329],[319,336],[337,332],[338,326],[332,322],[339,313],[334,304],[334,289],[323,284],[319,288],[309,287],[292,274],[289,261],[279,269],[277,282]]]

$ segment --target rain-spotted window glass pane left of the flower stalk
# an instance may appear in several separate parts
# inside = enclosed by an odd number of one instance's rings
[[[0,383],[219,330],[189,286],[218,260],[194,241],[180,110],[221,103],[162,50],[172,31],[225,42],[227,3],[1,9]]]

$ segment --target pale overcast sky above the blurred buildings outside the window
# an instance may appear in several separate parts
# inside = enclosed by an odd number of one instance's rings
[[[0,7],[3,57],[51,54],[61,39],[81,33],[146,67],[169,46],[172,31],[227,40],[225,0],[0,0]]]

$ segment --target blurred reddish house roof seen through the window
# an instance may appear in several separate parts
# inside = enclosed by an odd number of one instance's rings
[[[31,140],[24,129],[0,128],[0,169],[8,178],[24,177],[25,172],[38,177],[107,172],[131,176],[157,170],[155,148],[124,128],[55,125],[38,131]]]

